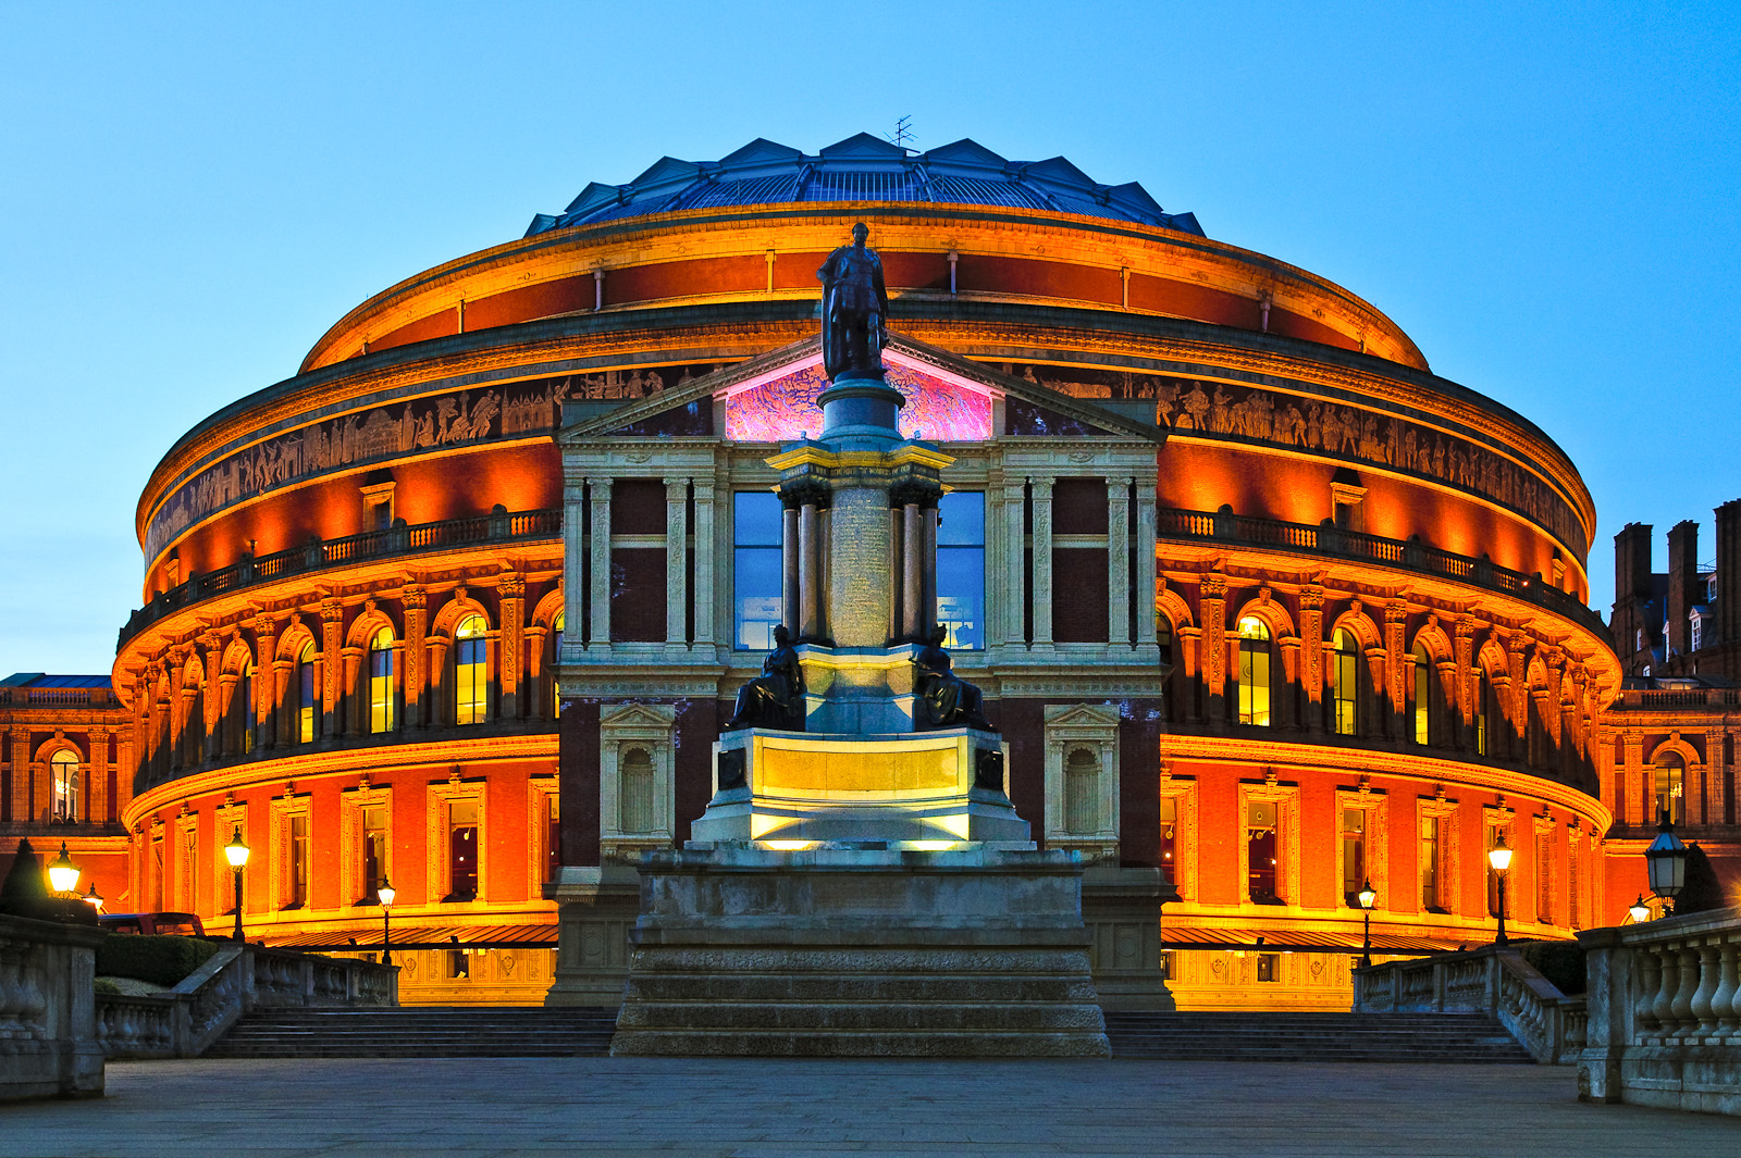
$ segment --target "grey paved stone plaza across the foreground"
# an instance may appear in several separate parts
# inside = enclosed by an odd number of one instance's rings
[[[1741,1121],[1583,1106],[1534,1066],[926,1061],[111,1062],[0,1106],[0,1155],[1741,1153]]]

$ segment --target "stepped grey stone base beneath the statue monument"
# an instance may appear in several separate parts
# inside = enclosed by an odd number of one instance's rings
[[[1067,852],[651,852],[611,1054],[1107,1057]]]

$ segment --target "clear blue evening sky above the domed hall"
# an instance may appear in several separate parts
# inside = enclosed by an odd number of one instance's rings
[[[1377,304],[1626,522],[1741,497],[1741,7],[0,0],[0,675],[108,671],[139,489],[590,181],[911,113]]]

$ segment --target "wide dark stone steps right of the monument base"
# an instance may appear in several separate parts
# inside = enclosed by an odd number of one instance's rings
[[[1107,1012],[1106,1036],[1114,1059],[1518,1066],[1536,1061],[1489,1014]]]

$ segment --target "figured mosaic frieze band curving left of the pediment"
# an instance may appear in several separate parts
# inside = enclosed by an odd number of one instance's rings
[[[313,423],[239,450],[183,483],[151,516],[145,558],[188,527],[273,487],[416,450],[555,429],[564,402],[632,402],[719,365],[604,370],[413,398]]]

